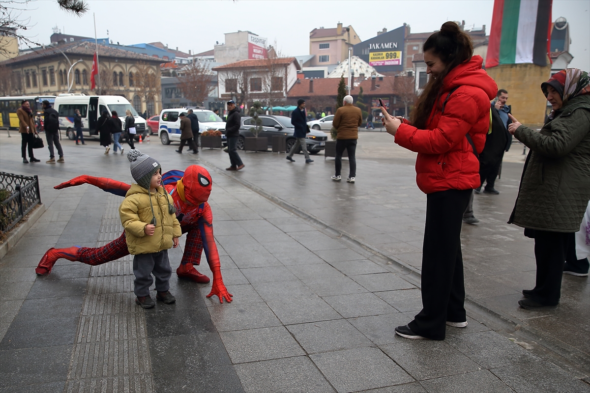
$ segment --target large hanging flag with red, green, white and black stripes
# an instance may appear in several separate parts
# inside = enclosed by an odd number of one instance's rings
[[[494,0],[486,67],[547,65],[552,0]]]

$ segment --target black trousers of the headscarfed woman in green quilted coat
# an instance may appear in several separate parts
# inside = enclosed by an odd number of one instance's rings
[[[531,298],[546,306],[555,306],[561,297],[563,265],[573,233],[535,230],[537,277]]]

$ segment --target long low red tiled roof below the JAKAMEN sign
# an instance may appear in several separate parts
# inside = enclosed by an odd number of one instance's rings
[[[375,81],[375,90],[371,90],[371,78],[362,80],[360,85],[355,86],[352,93],[353,96],[358,95],[360,87],[363,88],[363,94],[365,95],[383,95],[391,96],[395,94],[395,90],[392,87],[395,77],[383,77],[380,81],[379,78]],[[313,79],[313,93],[309,92],[309,84],[311,79],[300,79],[296,84],[291,87],[287,97],[319,97],[325,95],[338,95],[338,84],[340,83],[339,78],[317,78]]]

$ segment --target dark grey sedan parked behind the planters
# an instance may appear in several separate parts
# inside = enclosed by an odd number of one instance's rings
[[[287,116],[261,115],[262,131],[258,137],[268,138],[268,147],[273,146],[273,136],[285,136],[287,138],[287,151],[291,150],[295,143],[293,133],[295,128],[291,124],[291,118]],[[250,116],[242,117],[240,137],[238,137],[238,149],[244,150],[244,138],[253,137],[250,128],[255,127],[254,120]],[[326,147],[327,134],[322,131],[311,130],[306,136],[307,151],[310,154],[317,154]]]

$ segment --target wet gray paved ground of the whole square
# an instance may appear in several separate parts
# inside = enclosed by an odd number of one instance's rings
[[[101,266],[49,247],[100,246],[122,232],[120,197],[52,187],[80,174],[129,182],[125,156],[64,140],[64,164],[22,164],[20,138],[0,133],[2,171],[38,174],[47,211],[0,261],[0,392],[584,392],[590,391],[588,278],[564,276],[557,311],[519,309],[535,280],[533,242],[506,224],[522,147],[504,160],[500,195],[475,196],[480,223],[462,234],[467,328],[441,342],[394,334],[421,308],[425,196],[414,154],[385,133],[361,133],[355,184],[333,158],[244,153],[228,172],[219,149],[180,156],[137,145],[163,170],[206,167],[209,203],[231,303],[211,285],[179,281],[175,305],[133,302],[131,257]],[[516,147],[516,148],[515,148]],[[36,150],[47,159],[47,150]],[[343,174],[348,164],[343,163]],[[184,241],[169,252],[178,266]],[[198,270],[211,276],[205,262]],[[585,381],[585,382],[584,382]]]

